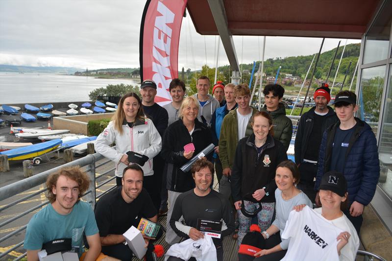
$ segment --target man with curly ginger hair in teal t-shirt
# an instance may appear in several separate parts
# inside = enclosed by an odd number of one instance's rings
[[[49,204],[34,214],[25,235],[27,260],[38,261],[43,244],[54,239],[70,238],[72,248],[84,260],[102,260],[101,244],[94,212],[80,197],[89,187],[90,179],[79,166],[64,167],[47,179]],[[83,234],[89,250],[83,250]]]

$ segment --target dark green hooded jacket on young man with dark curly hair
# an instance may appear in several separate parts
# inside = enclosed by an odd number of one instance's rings
[[[261,111],[270,114],[273,124],[273,138],[282,142],[287,151],[293,135],[293,122],[286,116],[285,105],[279,103],[278,109],[273,112],[267,111],[267,106],[264,105]]]

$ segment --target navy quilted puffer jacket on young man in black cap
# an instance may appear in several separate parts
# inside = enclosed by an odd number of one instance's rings
[[[345,156],[344,176],[347,180],[348,204],[357,201],[368,205],[374,196],[380,164],[378,160],[377,141],[370,126],[365,121],[355,118],[354,133],[348,144]],[[340,121],[328,127],[323,136],[319,152],[319,169],[317,171],[315,190],[319,190],[321,177],[329,170],[332,156],[332,143]]]

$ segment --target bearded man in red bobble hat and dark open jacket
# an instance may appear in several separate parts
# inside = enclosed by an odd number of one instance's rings
[[[322,84],[313,95],[316,106],[304,113],[299,119],[294,143],[295,164],[299,167],[301,179],[297,188],[315,202],[314,190],[318,169],[319,147],[322,134],[330,125],[338,121],[334,110],[327,104],[331,100],[327,84]]]

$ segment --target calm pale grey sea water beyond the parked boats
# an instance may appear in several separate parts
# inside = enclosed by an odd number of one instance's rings
[[[54,73],[0,72],[0,104],[76,102],[108,84],[138,86],[140,79],[99,79]]]

